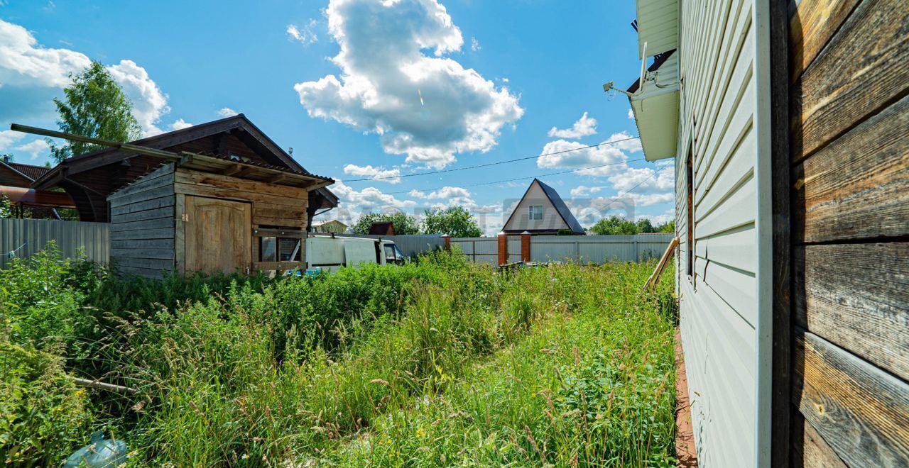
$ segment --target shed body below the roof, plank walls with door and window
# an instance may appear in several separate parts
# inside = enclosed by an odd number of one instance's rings
[[[287,171],[275,183],[247,178],[253,174],[167,162],[116,190],[107,197],[111,258],[146,277],[299,267],[313,178]]]

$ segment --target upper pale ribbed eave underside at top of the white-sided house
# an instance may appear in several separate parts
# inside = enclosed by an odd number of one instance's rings
[[[637,54],[647,56],[663,54],[678,48],[678,0],[637,0]]]

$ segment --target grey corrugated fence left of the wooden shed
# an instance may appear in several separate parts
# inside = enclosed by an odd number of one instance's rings
[[[52,219],[0,219],[0,268],[10,258],[29,258],[54,240],[66,258],[78,250],[100,263],[110,260],[110,225],[104,222],[57,221]]]

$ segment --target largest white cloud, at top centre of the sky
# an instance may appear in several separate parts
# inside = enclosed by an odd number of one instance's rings
[[[332,0],[325,15],[341,74],[295,85],[312,117],[378,134],[385,152],[442,168],[455,153],[491,150],[524,114],[506,87],[444,56],[464,39],[436,0]]]

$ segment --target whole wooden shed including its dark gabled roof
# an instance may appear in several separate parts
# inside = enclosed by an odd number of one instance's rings
[[[331,183],[239,114],[69,158],[33,187],[110,222],[122,272],[160,278],[302,265],[308,223],[337,206]]]

